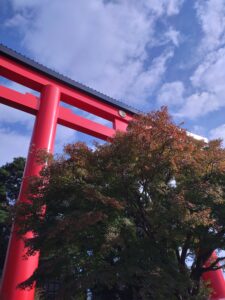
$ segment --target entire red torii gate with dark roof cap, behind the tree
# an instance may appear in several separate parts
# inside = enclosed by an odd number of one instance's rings
[[[40,99],[32,94],[22,94],[0,86],[0,103],[36,116],[27,163],[18,201],[27,201],[26,189],[30,176],[38,175],[41,166],[36,163],[36,153],[46,149],[53,153],[56,125],[61,124],[102,140],[111,140],[116,130],[125,131],[137,110],[64,77],[16,52],[0,45],[0,76],[40,92]],[[111,121],[113,128],[81,117],[60,106],[60,101]],[[24,243],[13,226],[5,261],[1,300],[33,300],[34,288],[21,290],[17,285],[32,275],[38,265],[39,255],[23,259]],[[32,234],[29,233],[29,236]],[[213,299],[225,299],[225,282],[221,270],[208,272],[215,290]]]

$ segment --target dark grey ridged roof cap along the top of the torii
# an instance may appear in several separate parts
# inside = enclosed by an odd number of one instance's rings
[[[113,99],[107,95],[104,95],[82,83],[72,80],[71,78],[68,78],[56,71],[53,71],[53,70],[43,66],[42,64],[39,64],[38,62],[8,48],[7,46],[5,46],[3,44],[0,44],[0,55],[9,57],[10,59],[13,59],[14,61],[17,61],[25,66],[28,66],[29,68],[31,68],[35,71],[38,71],[44,75],[47,75],[48,77],[51,77],[57,81],[60,81],[61,83],[65,84],[69,87],[72,87],[72,88],[78,89],[82,92],[85,92],[104,103],[110,104],[118,109],[125,110],[126,112],[128,112],[130,114],[140,113],[139,110],[137,110],[123,102],[120,102],[116,99]]]

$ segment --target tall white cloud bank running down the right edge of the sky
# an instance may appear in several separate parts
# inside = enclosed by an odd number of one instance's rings
[[[199,64],[190,76],[192,93],[177,113],[191,119],[225,107],[225,1],[198,0],[195,8],[202,29]]]

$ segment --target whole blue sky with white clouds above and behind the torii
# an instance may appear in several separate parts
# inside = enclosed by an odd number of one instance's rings
[[[0,25],[12,49],[144,112],[167,105],[188,131],[225,139],[225,0],[0,0]],[[0,105],[0,165],[26,156],[32,126]],[[59,127],[56,151],[80,139]]]

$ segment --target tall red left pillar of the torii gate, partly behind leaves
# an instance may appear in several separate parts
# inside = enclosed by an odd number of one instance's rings
[[[36,162],[38,150],[46,149],[48,152],[53,151],[59,101],[59,88],[53,85],[45,86],[41,94],[18,201],[27,201],[26,190],[28,179],[30,176],[39,175],[41,170],[42,166]],[[0,299],[33,300],[34,287],[30,290],[21,290],[17,286],[33,274],[38,265],[39,254],[37,253],[35,256],[29,257],[27,260],[23,259],[26,249],[23,240],[15,233],[15,228],[16,225],[13,226],[8,246],[1,282]],[[27,236],[32,236],[32,233],[28,233]]]

